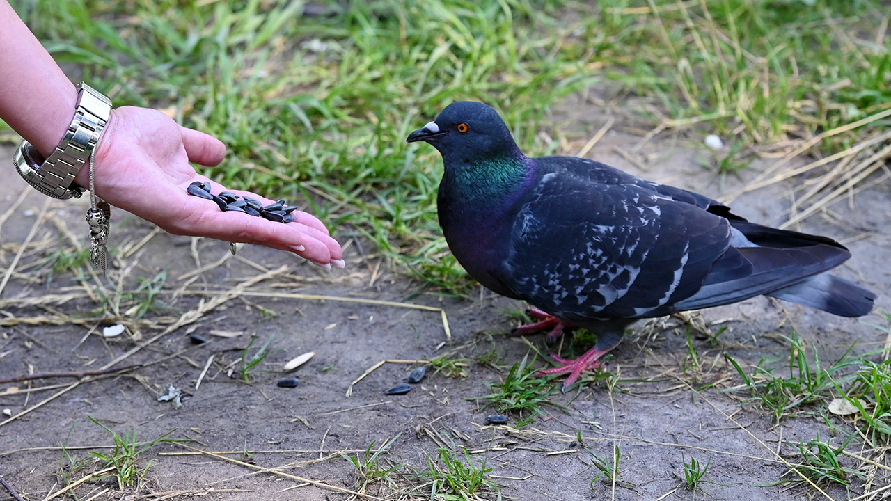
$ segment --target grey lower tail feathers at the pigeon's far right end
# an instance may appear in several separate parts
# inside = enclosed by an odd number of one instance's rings
[[[812,276],[767,295],[838,316],[867,315],[876,300],[873,292],[828,273]]]

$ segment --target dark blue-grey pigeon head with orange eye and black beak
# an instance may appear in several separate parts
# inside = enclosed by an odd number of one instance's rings
[[[425,141],[452,161],[472,164],[502,156],[522,158],[511,131],[491,106],[459,101],[446,106],[437,119],[414,131],[405,141]]]

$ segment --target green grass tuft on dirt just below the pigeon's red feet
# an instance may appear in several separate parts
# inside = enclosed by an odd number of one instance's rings
[[[485,400],[486,407],[495,406],[502,413],[517,413],[520,417],[518,427],[531,423],[532,415],[547,415],[542,410],[544,406],[557,407],[565,411],[566,407],[548,399],[558,391],[557,385],[552,382],[553,377],[536,377],[536,372],[538,369],[528,363],[527,355],[519,363],[511,366],[511,370],[504,376],[502,382],[486,383],[491,393],[468,399]]]

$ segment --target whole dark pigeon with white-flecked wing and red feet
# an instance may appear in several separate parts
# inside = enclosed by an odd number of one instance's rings
[[[766,295],[838,316],[871,312],[876,295],[825,273],[850,252],[823,236],[762,226],[699,193],[597,161],[529,158],[484,103],[452,103],[406,138],[443,157],[437,214],[449,249],[486,288],[537,309],[514,329],[567,327],[597,336],[563,390],[599,367],[638,319]]]

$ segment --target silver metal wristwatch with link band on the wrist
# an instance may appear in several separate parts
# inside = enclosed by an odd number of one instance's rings
[[[44,159],[34,145],[22,141],[12,157],[16,172],[47,196],[79,198],[84,188],[74,183],[74,177],[93,152],[110,114],[108,96],[81,82],[78,84],[77,111],[61,143],[48,159]]]

